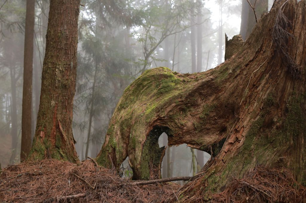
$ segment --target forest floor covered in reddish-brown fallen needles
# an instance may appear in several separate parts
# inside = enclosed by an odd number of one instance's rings
[[[0,175],[0,202],[179,202],[176,183],[137,186],[93,160],[57,160],[7,166]],[[256,167],[225,191],[188,202],[305,202],[306,188],[285,169]],[[196,193],[197,194],[197,193]]]

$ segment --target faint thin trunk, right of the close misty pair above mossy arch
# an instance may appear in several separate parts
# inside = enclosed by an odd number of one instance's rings
[[[198,0],[199,3],[201,1]],[[197,65],[196,72],[202,71],[202,8],[199,9],[199,13],[197,16]]]

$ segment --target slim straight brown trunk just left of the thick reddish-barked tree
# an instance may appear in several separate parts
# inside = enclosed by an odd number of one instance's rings
[[[20,160],[29,155],[32,136],[32,73],[35,0],[27,1],[24,34],[23,91]]]

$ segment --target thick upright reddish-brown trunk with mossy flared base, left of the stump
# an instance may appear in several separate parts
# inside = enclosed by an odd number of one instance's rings
[[[78,162],[72,134],[80,0],[51,0],[42,87],[30,160]]]

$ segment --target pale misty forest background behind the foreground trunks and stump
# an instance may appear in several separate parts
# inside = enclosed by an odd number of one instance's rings
[[[82,0],[73,107],[79,159],[99,153],[118,100],[144,70],[166,66],[172,71],[194,73],[224,62],[224,33],[229,38],[240,33],[242,1]],[[269,1],[269,9],[272,3]],[[20,162],[25,12],[26,1],[0,0],[2,167]],[[48,0],[35,1],[32,135],[39,108],[48,13]],[[166,134],[160,136],[159,145],[167,145]],[[167,148],[162,176],[191,176],[196,172],[192,171],[192,160],[200,170],[209,158],[186,144]],[[128,162],[123,166],[127,168]]]

